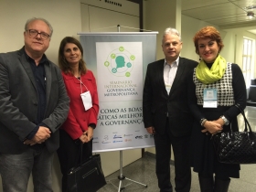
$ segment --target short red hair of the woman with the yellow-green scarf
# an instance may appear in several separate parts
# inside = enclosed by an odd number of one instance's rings
[[[215,27],[202,27],[199,31],[197,31],[195,37],[193,37],[194,45],[196,47],[196,53],[199,54],[198,49],[198,40],[200,38],[210,38],[212,40],[216,40],[219,46],[219,52],[224,47],[223,41],[220,37],[219,31]]]

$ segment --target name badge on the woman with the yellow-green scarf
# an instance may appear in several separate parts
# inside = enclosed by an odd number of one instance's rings
[[[217,108],[217,89],[204,89],[204,108]]]

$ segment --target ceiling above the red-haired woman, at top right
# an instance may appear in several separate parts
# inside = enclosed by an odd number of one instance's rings
[[[237,28],[246,24],[251,30],[256,30],[256,17],[247,16],[249,11],[256,16],[256,0],[182,0],[183,15],[219,27]]]

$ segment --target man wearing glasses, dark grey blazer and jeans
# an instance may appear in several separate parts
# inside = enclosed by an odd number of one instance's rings
[[[27,20],[20,50],[0,54],[0,174],[4,192],[52,190],[53,155],[59,126],[69,112],[61,72],[44,54],[52,27],[43,18]]]

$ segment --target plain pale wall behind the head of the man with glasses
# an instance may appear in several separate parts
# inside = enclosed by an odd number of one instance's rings
[[[0,52],[23,47],[25,23],[34,16],[46,18],[53,27],[53,36],[46,54],[48,59],[57,63],[61,39],[76,36],[81,30],[80,0],[1,0]]]

